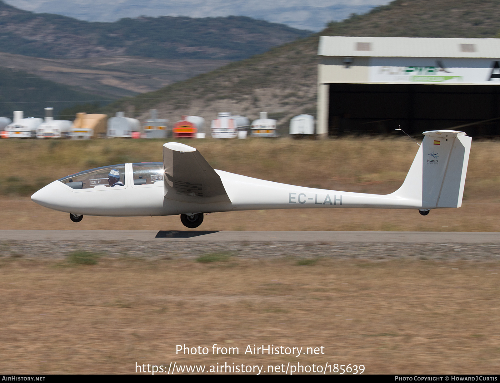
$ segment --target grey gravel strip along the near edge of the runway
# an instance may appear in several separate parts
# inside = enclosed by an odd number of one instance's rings
[[[5,259],[65,259],[74,251],[88,251],[110,258],[196,259],[226,253],[242,259],[329,258],[388,261],[394,259],[436,261],[500,260],[496,243],[395,243],[395,242],[187,242],[187,241],[0,241]]]

